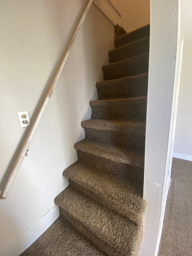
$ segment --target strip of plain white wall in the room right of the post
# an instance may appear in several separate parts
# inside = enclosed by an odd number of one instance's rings
[[[192,40],[184,41],[173,156],[192,161]]]

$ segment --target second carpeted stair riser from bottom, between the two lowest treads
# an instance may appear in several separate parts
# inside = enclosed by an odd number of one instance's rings
[[[113,209],[114,212],[122,215],[125,218],[128,218],[129,221],[134,222],[137,225],[142,225],[142,218],[143,218],[143,212],[138,213],[138,212],[131,212],[130,209],[131,207],[122,207],[122,205],[119,205],[118,202],[113,202],[106,199],[105,197],[102,197],[102,195],[98,193],[94,193],[93,191],[77,184],[76,182],[73,182],[72,180],[69,179],[69,184],[76,189],[77,191],[86,194],[88,197],[94,200],[94,202],[97,202],[104,207],[108,209]]]

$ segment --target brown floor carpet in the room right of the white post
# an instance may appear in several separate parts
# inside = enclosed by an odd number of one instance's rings
[[[173,158],[158,256],[192,255],[192,162]]]

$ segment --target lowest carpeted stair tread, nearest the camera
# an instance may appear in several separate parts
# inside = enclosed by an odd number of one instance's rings
[[[56,198],[55,203],[65,210],[71,219],[79,221],[100,240],[117,251],[117,255],[132,255],[138,249],[140,227],[113,211],[105,209],[70,185]],[[137,248],[136,248],[137,247]]]

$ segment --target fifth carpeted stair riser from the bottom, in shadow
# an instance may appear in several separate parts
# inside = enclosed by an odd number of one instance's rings
[[[130,101],[105,101],[94,105],[90,103],[90,106],[92,119],[146,121],[146,98]]]

